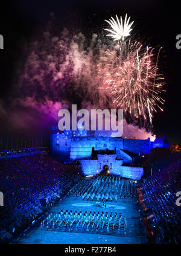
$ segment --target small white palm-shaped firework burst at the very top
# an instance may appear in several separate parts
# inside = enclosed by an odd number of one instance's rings
[[[116,15],[116,20],[117,20],[117,22],[112,17],[111,17],[111,19],[109,19],[109,21],[105,20],[112,28],[112,30],[105,28],[105,30],[107,30],[111,33],[111,34],[107,34],[107,36],[111,36],[114,39],[114,41],[120,40],[120,39],[122,39],[124,41],[125,37],[130,36],[130,31],[132,31],[131,27],[132,27],[134,21],[132,21],[129,24],[130,17],[127,19],[127,14],[125,14],[124,25],[122,22],[122,16],[119,21],[118,16]]]

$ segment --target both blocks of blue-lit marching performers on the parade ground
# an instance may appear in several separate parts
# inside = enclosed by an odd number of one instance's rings
[[[82,197],[83,201],[95,200],[99,206],[106,208],[107,202],[118,202],[122,198],[135,198],[135,182],[120,176],[94,176],[91,179],[82,179],[79,184],[69,190],[69,196]],[[127,220],[122,213],[100,211],[68,211],[49,214],[41,223],[46,230],[69,232],[92,232],[96,234],[125,235]]]

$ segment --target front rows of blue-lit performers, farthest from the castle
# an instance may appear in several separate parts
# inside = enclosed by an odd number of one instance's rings
[[[127,222],[122,220],[121,213],[101,213],[98,211],[63,211],[59,214],[49,214],[41,223],[41,228],[46,230],[89,232],[96,234],[125,235]]]

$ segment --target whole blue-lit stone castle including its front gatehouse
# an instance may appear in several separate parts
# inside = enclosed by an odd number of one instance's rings
[[[143,168],[135,166],[136,158],[155,147],[170,149],[170,142],[165,137],[150,141],[150,138],[115,138],[107,136],[105,131],[64,130],[60,133],[57,130],[52,127],[51,154],[63,162],[78,161],[86,175],[107,170],[125,178],[140,179]]]

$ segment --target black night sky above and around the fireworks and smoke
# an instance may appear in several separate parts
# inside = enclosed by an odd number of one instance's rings
[[[0,34],[4,36],[4,50],[0,50],[1,92],[8,97],[16,62],[23,56],[21,42],[30,41],[54,12],[62,26],[78,28],[89,36],[99,33],[104,19],[129,13],[138,34],[153,47],[162,46],[160,59],[167,82],[164,112],[154,115],[153,127],[157,135],[166,135],[171,142],[181,142],[181,49],[176,49],[176,36],[181,34],[180,13],[177,4],[151,0],[97,0],[97,1],[5,1],[0,10]],[[164,57],[165,56],[165,57]],[[7,106],[8,107],[8,106]]]

